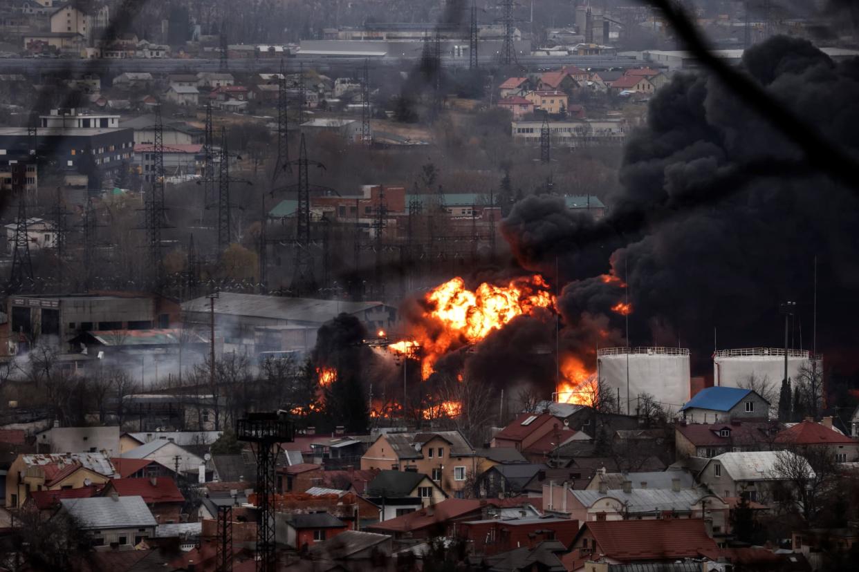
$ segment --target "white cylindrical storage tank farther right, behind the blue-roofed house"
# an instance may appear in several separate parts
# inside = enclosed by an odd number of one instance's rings
[[[815,358],[819,359],[819,358]],[[788,350],[788,376],[794,382],[803,368],[811,369],[812,357],[807,350]],[[822,371],[818,364],[818,371]],[[743,347],[718,350],[713,355],[713,384],[729,388],[745,388],[751,377],[766,382],[773,397],[778,399],[784,378],[784,348]],[[771,411],[778,403],[771,403]]]

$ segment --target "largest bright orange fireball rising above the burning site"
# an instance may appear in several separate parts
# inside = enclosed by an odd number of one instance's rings
[[[425,296],[428,310],[424,318],[431,331],[417,333],[413,346],[423,351],[421,374],[424,379],[434,371],[438,358],[451,349],[475,344],[516,316],[537,308],[554,308],[555,297],[539,274],[510,280],[506,286],[483,283],[475,290],[466,288],[460,277],[436,286]],[[392,344],[395,351],[404,342]],[[410,347],[405,342],[405,347]]]

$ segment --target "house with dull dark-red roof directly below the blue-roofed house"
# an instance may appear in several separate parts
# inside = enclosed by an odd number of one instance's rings
[[[674,449],[681,457],[715,457],[728,451],[771,449],[781,424],[777,421],[730,421],[674,427]]]

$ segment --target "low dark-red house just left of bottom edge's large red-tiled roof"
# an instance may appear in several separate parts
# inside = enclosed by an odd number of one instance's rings
[[[545,516],[461,521],[455,528],[458,538],[466,540],[476,554],[484,555],[533,548],[545,540],[570,546],[578,531],[578,521]]]

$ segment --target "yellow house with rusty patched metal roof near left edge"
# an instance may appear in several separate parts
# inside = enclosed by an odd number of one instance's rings
[[[6,475],[6,507],[20,509],[30,491],[101,485],[115,473],[113,463],[102,453],[18,455]]]

